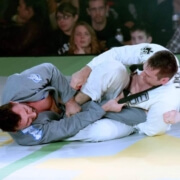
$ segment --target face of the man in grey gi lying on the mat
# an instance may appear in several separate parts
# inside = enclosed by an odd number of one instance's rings
[[[12,111],[21,117],[16,130],[21,130],[30,126],[38,116],[36,109],[24,103],[13,103],[14,106],[12,107]]]

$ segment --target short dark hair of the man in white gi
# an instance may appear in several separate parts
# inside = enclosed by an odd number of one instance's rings
[[[167,50],[158,51],[153,54],[148,59],[147,65],[153,69],[159,69],[157,74],[159,79],[163,77],[172,78],[178,70],[175,56]]]

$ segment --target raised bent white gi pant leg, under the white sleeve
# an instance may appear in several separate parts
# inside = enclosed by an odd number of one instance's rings
[[[81,92],[93,101],[114,99],[128,85],[129,74],[119,61],[106,61],[96,66],[89,75]]]

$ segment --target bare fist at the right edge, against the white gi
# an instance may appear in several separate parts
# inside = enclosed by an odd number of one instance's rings
[[[180,122],[180,113],[172,110],[163,114],[164,122],[167,124],[175,124]]]

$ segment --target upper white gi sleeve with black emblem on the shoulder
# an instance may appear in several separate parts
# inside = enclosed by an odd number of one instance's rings
[[[104,61],[120,61],[124,65],[141,64],[147,61],[155,52],[167,50],[163,46],[152,43],[126,45],[112,48],[93,58],[87,65],[93,69]]]

